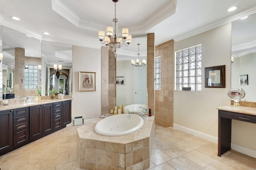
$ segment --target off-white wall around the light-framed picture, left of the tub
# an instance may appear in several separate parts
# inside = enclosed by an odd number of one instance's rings
[[[73,45],[72,117],[84,115],[94,119],[101,115],[101,53],[100,49]],[[79,92],[79,71],[96,72],[96,91]]]

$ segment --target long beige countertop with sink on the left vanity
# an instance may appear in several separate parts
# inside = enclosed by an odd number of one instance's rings
[[[36,106],[36,105],[40,105],[40,104],[62,102],[62,101],[66,101],[66,100],[73,100],[73,98],[67,98],[67,99],[47,99],[47,100],[38,100],[38,101],[35,101],[35,102],[25,102],[25,103],[15,102],[15,103],[8,104],[8,105],[1,105],[0,106],[0,111],[8,110],[8,109],[16,109],[16,108],[21,108],[21,107],[28,107],[28,106]]]

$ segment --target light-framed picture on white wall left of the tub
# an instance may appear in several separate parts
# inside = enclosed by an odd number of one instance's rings
[[[79,72],[79,92],[96,91],[96,72]]]

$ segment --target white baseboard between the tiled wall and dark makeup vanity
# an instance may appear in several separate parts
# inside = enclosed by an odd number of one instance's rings
[[[180,131],[184,131],[184,132],[189,133],[191,135],[200,137],[200,138],[205,139],[207,141],[210,141],[212,143],[218,143],[218,137],[214,137],[212,135],[207,135],[205,133],[202,133],[202,132],[199,132],[199,131],[195,131],[193,129],[189,129],[187,127],[180,126],[180,125],[177,125],[177,124],[173,124],[173,128],[177,129],[177,130],[180,130]]]

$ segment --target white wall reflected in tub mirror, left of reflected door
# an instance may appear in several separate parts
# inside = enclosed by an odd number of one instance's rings
[[[134,104],[134,66],[131,61],[116,61],[116,76],[124,76],[124,85],[116,86],[116,105]]]

